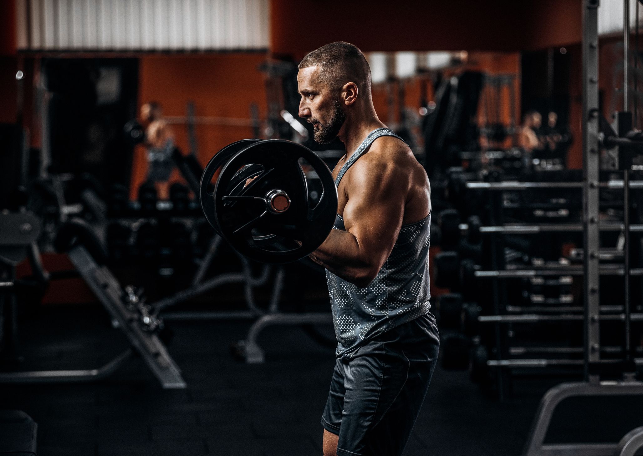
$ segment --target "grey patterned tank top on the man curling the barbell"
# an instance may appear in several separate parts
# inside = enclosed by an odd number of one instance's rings
[[[350,166],[380,136],[395,136],[402,140],[390,129],[379,128],[370,132],[341,168],[335,185],[340,185]],[[431,308],[430,226],[431,214],[419,222],[403,225],[391,254],[367,287],[357,287],[326,270],[338,358],[351,358],[368,340],[428,313]],[[344,220],[339,214],[333,228],[345,230]]]

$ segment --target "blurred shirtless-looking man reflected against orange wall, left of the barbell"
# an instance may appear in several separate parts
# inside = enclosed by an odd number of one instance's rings
[[[145,145],[147,145],[149,164],[147,180],[155,183],[159,199],[168,199],[168,180],[174,168],[172,161],[174,132],[163,120],[163,111],[158,102],[149,102],[141,106],[141,118],[143,118],[143,122],[147,123],[145,129]]]

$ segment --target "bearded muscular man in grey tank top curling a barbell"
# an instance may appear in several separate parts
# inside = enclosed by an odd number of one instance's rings
[[[321,419],[324,455],[402,453],[428,390],[439,334],[429,304],[431,200],[424,168],[377,118],[361,51],[334,42],[299,64],[299,115],[347,154],[333,170],[334,230],[311,254],[327,269],[338,340]]]

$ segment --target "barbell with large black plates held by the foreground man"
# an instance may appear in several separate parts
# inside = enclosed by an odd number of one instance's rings
[[[305,173],[302,165],[311,170]],[[313,174],[321,183],[321,197],[314,201],[307,181]],[[316,250],[332,230],[338,201],[331,170],[312,150],[256,139],[231,143],[213,156],[199,197],[208,223],[223,239],[249,259],[272,264]]]

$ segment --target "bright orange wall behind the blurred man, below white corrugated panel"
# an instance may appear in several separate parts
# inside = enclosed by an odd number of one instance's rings
[[[194,101],[196,116],[250,118],[250,105],[257,104],[266,118],[264,78],[257,67],[263,53],[202,55],[144,55],[140,59],[139,106],[158,101],[166,116],[185,116],[188,101]],[[179,149],[190,150],[186,125],[172,125]],[[251,138],[251,127],[197,125],[199,161],[206,164],[225,145]],[[147,162],[138,149],[132,167],[132,192],[145,180]],[[177,178],[178,175],[175,176]]]

